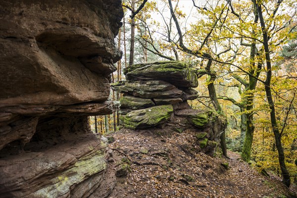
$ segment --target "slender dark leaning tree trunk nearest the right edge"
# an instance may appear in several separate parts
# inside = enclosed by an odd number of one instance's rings
[[[278,125],[277,125],[277,120],[276,120],[276,115],[275,115],[275,106],[274,102],[272,99],[272,93],[271,93],[271,76],[272,76],[272,67],[271,67],[271,59],[270,59],[270,52],[269,52],[269,44],[268,44],[268,33],[267,29],[265,27],[265,21],[264,17],[262,15],[262,8],[261,5],[257,4],[257,11],[259,14],[259,19],[260,19],[260,24],[261,24],[261,29],[262,29],[262,36],[263,36],[263,45],[264,45],[264,51],[265,51],[265,59],[266,59],[266,80],[265,80],[265,93],[267,97],[267,101],[269,104],[270,108],[270,121],[271,121],[271,126],[272,126],[272,131],[275,137],[275,145],[278,151],[278,158],[279,158],[279,163],[280,163],[280,168],[282,171],[282,177],[283,177],[283,183],[289,188],[291,185],[291,178],[289,175],[289,171],[286,167],[285,163],[285,153],[284,149],[282,146],[282,134],[279,131]]]

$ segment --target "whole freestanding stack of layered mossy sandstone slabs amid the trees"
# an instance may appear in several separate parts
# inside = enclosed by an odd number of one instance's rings
[[[122,125],[130,129],[160,127],[197,132],[201,151],[213,155],[219,150],[219,137],[226,121],[216,112],[191,109],[187,100],[197,99],[198,79],[184,62],[159,61],[131,65],[125,70],[127,81],[112,84],[124,93],[120,100]]]

